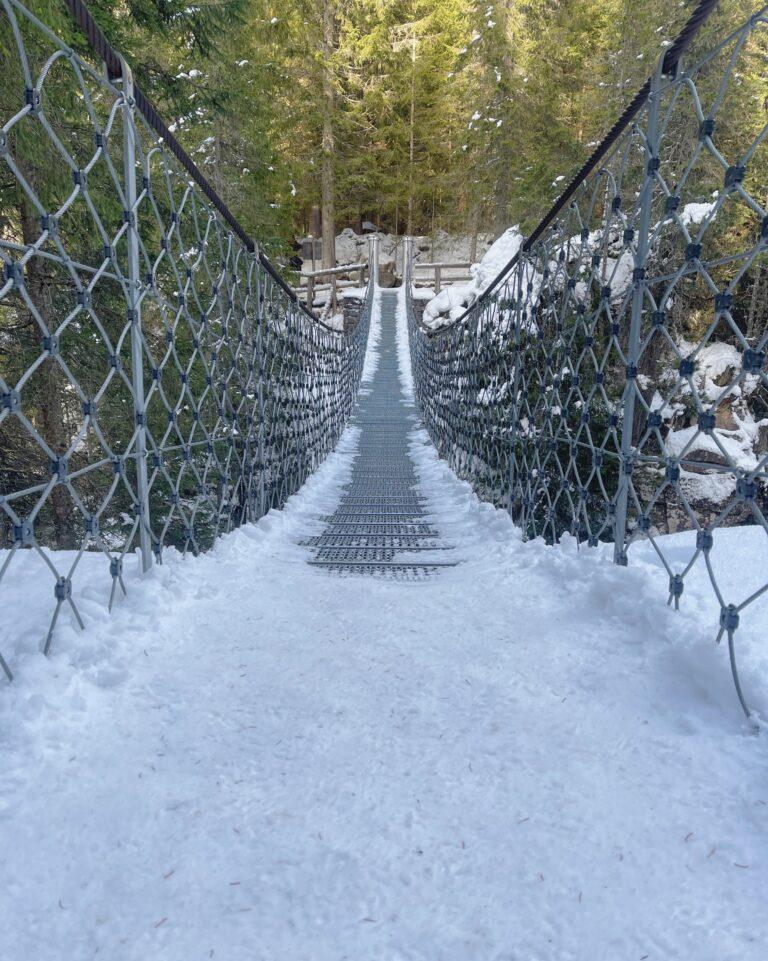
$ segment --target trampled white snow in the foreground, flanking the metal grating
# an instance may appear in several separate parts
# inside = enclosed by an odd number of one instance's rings
[[[3,961],[764,961],[765,739],[706,584],[675,614],[650,554],[522,544],[420,431],[461,563],[330,577],[300,542],[360,441],[211,553],[127,572],[111,618],[84,592],[101,620],[62,618],[50,660],[30,632],[0,700]]]

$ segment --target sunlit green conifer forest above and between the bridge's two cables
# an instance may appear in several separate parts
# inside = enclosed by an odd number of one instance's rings
[[[649,0],[94,0],[215,189],[268,250],[371,219],[393,233],[534,225],[693,8]],[[55,0],[35,4],[84,44]],[[754,12],[731,0],[698,44]],[[51,18],[53,18],[51,20]],[[762,63],[758,58],[758,63]],[[764,64],[744,82],[757,112]],[[732,122],[753,123],[743,115]]]

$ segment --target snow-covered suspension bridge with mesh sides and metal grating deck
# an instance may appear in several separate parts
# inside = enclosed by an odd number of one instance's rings
[[[90,54],[2,0],[10,961],[764,957],[768,15],[714,6],[464,308],[374,241],[342,332],[80,0]]]

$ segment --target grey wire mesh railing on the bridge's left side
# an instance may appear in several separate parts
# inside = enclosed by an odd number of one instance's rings
[[[0,584],[20,552],[44,565],[46,652],[63,607],[82,626],[84,556],[111,606],[127,554],[205,550],[301,486],[371,306],[348,336],[314,319],[68,6],[92,61],[19,0],[0,15]]]

